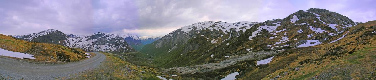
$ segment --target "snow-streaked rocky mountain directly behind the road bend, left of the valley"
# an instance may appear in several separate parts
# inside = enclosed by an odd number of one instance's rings
[[[67,47],[82,48],[85,51],[105,51],[109,53],[135,52],[123,37],[110,33],[98,32],[76,38],[68,38]]]

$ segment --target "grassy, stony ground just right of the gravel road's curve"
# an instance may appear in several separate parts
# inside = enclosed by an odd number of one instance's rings
[[[129,63],[119,56],[103,53],[106,55],[105,62],[99,68],[92,71],[84,72],[72,80],[159,80],[156,75],[162,76],[165,74],[159,73],[158,69],[149,68],[147,66],[137,66]],[[141,71],[145,71],[143,74]],[[62,78],[64,79],[64,78]]]

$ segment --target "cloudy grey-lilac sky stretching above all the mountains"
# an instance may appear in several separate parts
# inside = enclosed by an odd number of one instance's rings
[[[166,35],[200,21],[263,22],[321,8],[355,22],[376,20],[376,0],[1,0],[0,33],[26,35],[46,29]]]

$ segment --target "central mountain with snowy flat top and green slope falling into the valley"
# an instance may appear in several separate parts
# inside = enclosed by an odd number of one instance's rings
[[[179,28],[152,44],[145,45],[140,51],[152,55],[155,59],[152,63],[167,63],[166,65],[159,64],[159,66],[189,65],[187,62],[191,62],[191,58],[200,57],[202,56],[200,53],[220,44],[232,42],[255,24],[258,23],[199,22]],[[189,57],[177,60],[176,57],[181,55]]]

